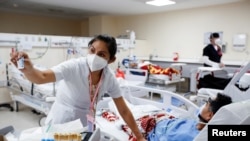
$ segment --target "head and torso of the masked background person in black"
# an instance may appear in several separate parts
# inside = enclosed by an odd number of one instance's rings
[[[219,33],[212,33],[210,35],[210,44],[203,49],[202,62],[204,66],[222,68],[224,63],[221,62],[222,50],[220,47],[220,35]]]

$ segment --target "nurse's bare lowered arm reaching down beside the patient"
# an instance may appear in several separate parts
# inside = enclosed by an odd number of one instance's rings
[[[114,98],[113,100],[114,100],[114,103],[115,103],[121,117],[127,123],[129,128],[132,130],[132,132],[136,136],[137,140],[138,141],[145,141],[145,139],[143,138],[142,134],[140,133],[138,126],[135,122],[135,119],[134,119],[131,111],[127,107],[123,97]]]

